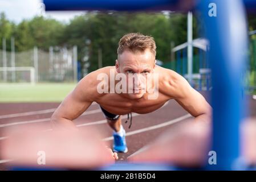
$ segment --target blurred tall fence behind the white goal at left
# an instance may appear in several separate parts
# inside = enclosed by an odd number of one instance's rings
[[[50,47],[48,51],[34,47],[15,53],[0,50],[0,68],[0,82],[76,82],[77,47]]]

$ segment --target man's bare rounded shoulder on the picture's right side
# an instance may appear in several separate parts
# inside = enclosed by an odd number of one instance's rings
[[[186,89],[190,88],[188,81],[177,72],[156,67],[156,73],[159,73],[159,90],[164,94],[168,94],[170,97],[179,97],[184,95]]]

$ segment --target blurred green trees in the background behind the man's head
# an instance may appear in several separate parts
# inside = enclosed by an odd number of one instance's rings
[[[202,34],[200,20],[193,17],[193,38]],[[251,20],[250,22],[253,22]],[[49,47],[78,46],[78,60],[82,67],[88,61],[89,71],[98,68],[98,52],[102,52],[103,66],[113,65],[119,39],[129,32],[140,32],[155,38],[157,59],[170,61],[171,42],[186,42],[186,14],[173,13],[99,13],[87,12],[63,23],[52,18],[35,16],[14,23],[0,14],[0,49],[6,38],[10,51],[11,37],[15,38],[15,51],[26,51],[37,46],[48,51]]]

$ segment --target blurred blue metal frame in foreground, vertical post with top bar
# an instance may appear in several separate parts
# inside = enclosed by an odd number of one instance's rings
[[[148,10],[182,9],[180,1],[171,0],[44,0],[46,10]],[[212,69],[213,147],[217,165],[208,169],[234,169],[239,157],[239,122],[243,116],[241,75],[246,63],[247,28],[241,0],[197,1],[210,42]],[[209,3],[216,3],[217,17],[208,15]],[[250,8],[253,0],[245,1]],[[193,7],[190,7],[193,9]]]

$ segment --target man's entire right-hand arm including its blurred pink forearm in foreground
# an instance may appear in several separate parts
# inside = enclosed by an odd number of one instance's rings
[[[169,162],[183,167],[198,167],[205,164],[209,151],[212,107],[194,90],[182,76],[165,69],[160,80],[160,92],[175,99],[194,119],[173,126],[161,134],[149,146],[133,155],[132,162]]]

